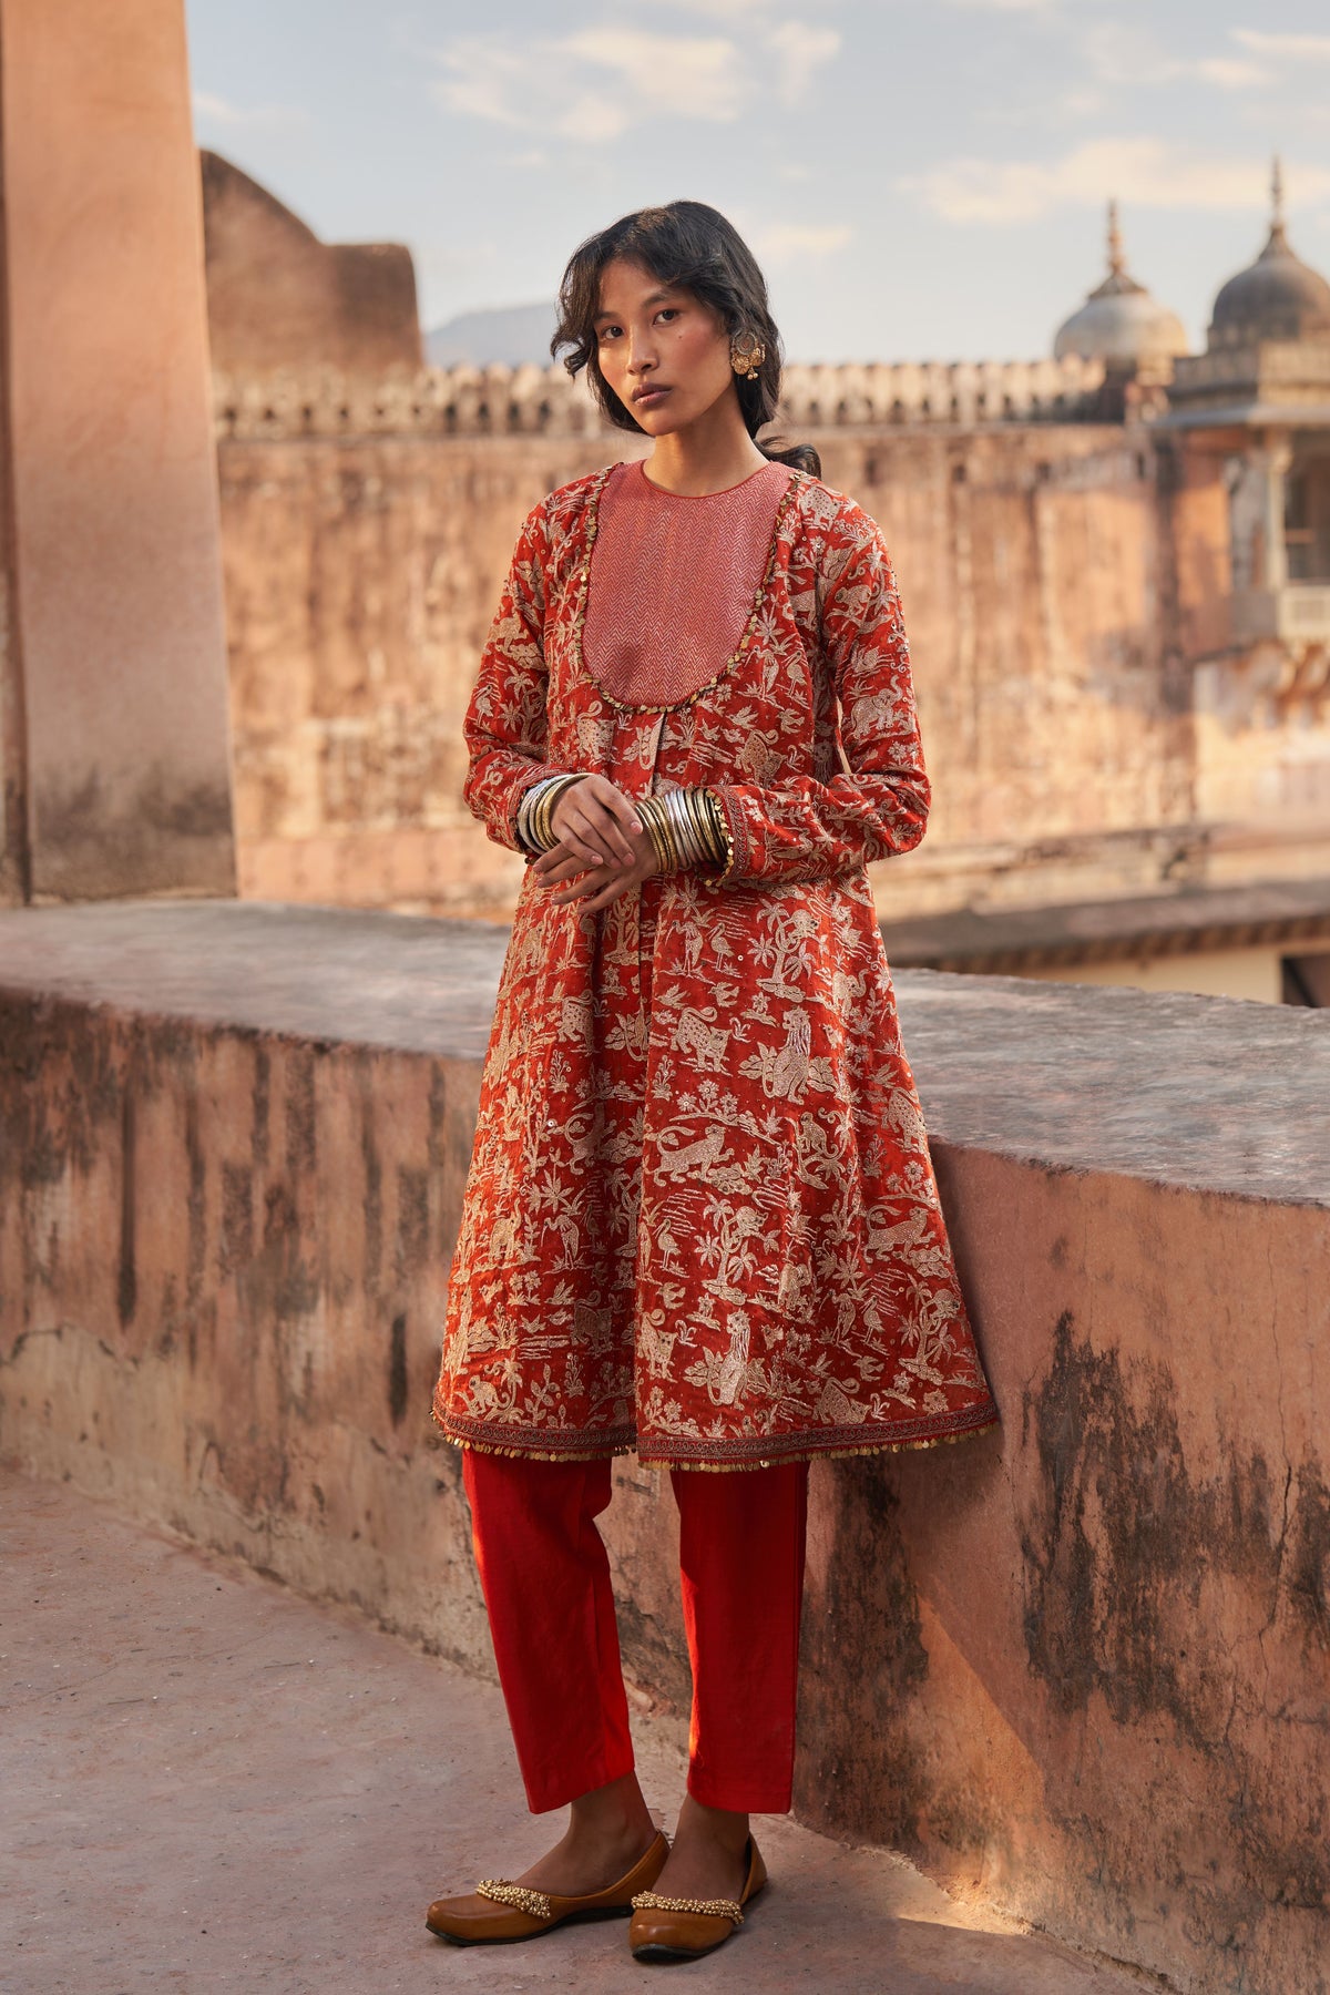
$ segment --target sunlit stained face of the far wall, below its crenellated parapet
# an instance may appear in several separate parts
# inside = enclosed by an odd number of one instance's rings
[[[1121,429],[798,431],[883,525],[935,786],[881,912],[1153,886],[1188,846],[1155,457]],[[461,720],[516,529],[626,435],[219,445],[241,892],[504,912]]]

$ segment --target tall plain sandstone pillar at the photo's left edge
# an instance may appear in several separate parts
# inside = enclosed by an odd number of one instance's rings
[[[0,0],[0,900],[235,892],[181,0]]]

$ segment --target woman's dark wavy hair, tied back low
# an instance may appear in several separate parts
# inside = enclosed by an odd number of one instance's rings
[[[606,263],[626,257],[640,263],[662,283],[678,283],[710,305],[730,339],[756,333],[766,347],[766,359],[756,381],[736,375],[744,427],[764,457],[778,465],[794,465],[822,477],[822,459],[812,443],[762,443],[758,431],[774,421],[780,407],[782,343],[772,317],[766,279],[758,259],[732,221],[706,201],[666,201],[664,207],[638,207],[620,215],[608,229],[598,229],[568,257],[558,285],[558,325],[550,339],[550,355],[572,347],[564,359],[570,375],[586,367],[592,393],[618,429],[648,435],[630,409],[618,399],[600,373],[600,343],[596,313],[600,311],[600,277]]]

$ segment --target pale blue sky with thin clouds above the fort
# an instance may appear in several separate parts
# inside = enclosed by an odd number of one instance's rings
[[[1105,269],[1192,345],[1270,154],[1330,275],[1326,0],[187,0],[195,122],[427,327],[552,297],[592,229],[710,201],[790,359],[1033,359]]]

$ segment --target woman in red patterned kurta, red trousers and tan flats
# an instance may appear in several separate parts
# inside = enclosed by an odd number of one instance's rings
[[[780,397],[766,285],[700,201],[574,253],[552,351],[654,441],[526,519],[465,798],[524,850],[449,1277],[435,1418],[465,1486],[532,1811],[457,1941],[628,1911],[708,1953],[790,1807],[808,1464],[995,1420],[865,864],[929,784],[891,567]],[[694,1672],[674,1843],[632,1772],[594,1518],[670,1466]],[[708,1470],[732,1470],[716,1474]]]

